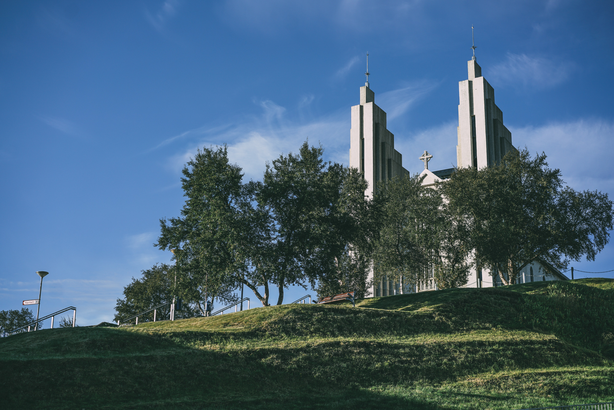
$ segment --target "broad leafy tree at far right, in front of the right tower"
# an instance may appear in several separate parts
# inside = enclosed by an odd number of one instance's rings
[[[563,183],[543,152],[531,158],[525,148],[508,152],[500,165],[459,168],[439,189],[470,223],[476,260],[509,285],[535,259],[562,270],[581,256],[593,261],[608,243],[608,195]]]

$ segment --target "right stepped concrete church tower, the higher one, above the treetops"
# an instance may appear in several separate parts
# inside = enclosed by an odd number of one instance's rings
[[[457,167],[489,167],[499,164],[514,146],[503,125],[503,112],[495,104],[495,91],[482,77],[475,55],[467,68],[468,79],[459,82]]]

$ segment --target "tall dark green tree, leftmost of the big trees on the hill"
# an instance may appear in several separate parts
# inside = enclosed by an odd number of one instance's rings
[[[182,173],[187,200],[181,217],[160,219],[161,234],[154,244],[161,250],[181,247],[174,256],[179,291],[198,293],[195,300],[233,302],[232,290],[244,283],[268,305],[272,271],[262,255],[268,251],[269,220],[254,202],[262,184],[243,184],[241,168],[228,162],[226,146],[198,149]]]

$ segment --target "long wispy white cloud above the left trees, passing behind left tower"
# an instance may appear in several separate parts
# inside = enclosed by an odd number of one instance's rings
[[[410,111],[416,101],[437,85],[426,81],[405,85],[400,89],[376,95],[376,103],[388,112],[388,119],[394,119]],[[179,133],[157,147],[180,140],[189,141],[182,152],[169,159],[169,169],[177,172],[194,157],[198,147],[220,146],[225,143],[231,162],[241,166],[248,179],[261,179],[267,161],[282,153],[296,152],[300,144],[307,139],[311,144],[322,144],[327,160],[348,165],[349,107],[326,116],[313,117],[303,112],[313,99],[311,95],[301,98],[298,112],[289,112],[270,100],[256,101],[262,109],[258,116],[244,117],[233,124],[217,127],[206,125]],[[453,135],[456,135],[456,132]]]

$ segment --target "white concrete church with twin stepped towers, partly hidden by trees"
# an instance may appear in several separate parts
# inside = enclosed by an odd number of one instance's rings
[[[457,167],[483,168],[493,163],[499,164],[508,151],[516,149],[511,141],[511,132],[503,125],[503,112],[495,104],[494,89],[482,76],[482,69],[475,55],[472,60],[467,61],[467,71],[467,79],[459,82]],[[368,83],[368,69],[366,74],[367,82],[360,87],[360,104],[351,108],[349,165],[364,173],[369,183],[365,195],[371,195],[372,187],[377,181],[386,181],[410,173],[403,168],[402,154],[394,148],[394,134],[387,129],[386,112],[375,104],[375,93]],[[435,182],[448,179],[454,168],[429,170],[429,160],[432,156],[427,152],[428,147],[425,148],[424,153],[416,152],[411,155],[416,155],[424,161],[424,171],[420,174],[420,176],[426,175],[423,186],[434,186]],[[474,267],[463,287],[486,288],[502,285],[498,275],[490,273],[488,270]],[[430,277],[429,280],[404,289],[401,289],[400,283],[384,277],[373,284],[371,292],[373,296],[379,297],[437,290],[432,272]],[[373,272],[371,272],[372,278]],[[546,266],[545,262],[536,260],[524,267],[518,283],[567,279],[553,266]]]

